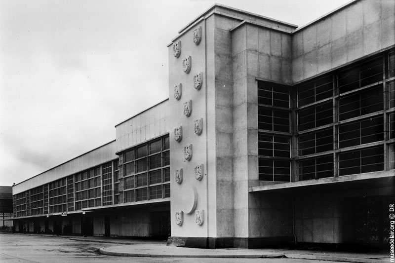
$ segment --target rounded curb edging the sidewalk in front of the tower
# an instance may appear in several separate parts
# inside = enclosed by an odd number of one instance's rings
[[[335,262],[350,262],[350,263],[384,263],[385,260],[376,259],[359,259],[359,258],[345,258],[336,256],[319,256],[319,255],[304,255],[304,254],[264,254],[264,255],[168,255],[168,254],[141,254],[141,253],[126,253],[107,251],[106,248],[100,248],[99,253],[107,256],[117,257],[144,257],[144,258],[232,258],[232,259],[263,259],[263,258],[288,258],[300,260],[321,260],[321,261],[335,261]]]

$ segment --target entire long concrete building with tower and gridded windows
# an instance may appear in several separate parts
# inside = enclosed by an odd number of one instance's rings
[[[355,0],[300,28],[215,4],[168,45],[168,100],[13,187],[17,230],[383,247],[394,47],[392,0]]]

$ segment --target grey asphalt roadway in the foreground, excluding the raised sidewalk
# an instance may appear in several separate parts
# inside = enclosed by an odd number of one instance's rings
[[[0,262],[1,263],[79,263],[79,262],[182,262],[182,263],[317,263],[316,260],[296,260],[286,258],[268,259],[219,259],[219,258],[150,258],[150,257],[114,257],[100,255],[98,249],[103,246],[117,246],[118,242],[106,238],[88,237],[87,239],[64,236],[28,235],[28,234],[0,234]],[[144,240],[123,240],[123,243],[147,246],[160,242]],[[330,263],[330,261],[325,261]]]

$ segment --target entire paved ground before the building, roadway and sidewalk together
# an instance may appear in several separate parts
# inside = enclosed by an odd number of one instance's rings
[[[101,254],[99,253],[99,250]],[[0,234],[0,262],[389,262],[389,254],[289,249],[196,249],[165,241]]]

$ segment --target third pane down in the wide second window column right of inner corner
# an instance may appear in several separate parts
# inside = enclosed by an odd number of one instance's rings
[[[339,126],[339,147],[345,148],[384,140],[383,116]]]

